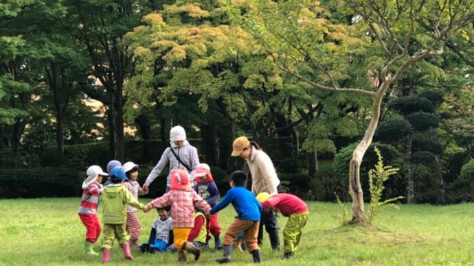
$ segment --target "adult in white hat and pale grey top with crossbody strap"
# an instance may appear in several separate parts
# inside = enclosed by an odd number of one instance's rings
[[[194,171],[199,165],[199,157],[196,147],[190,145],[186,140],[186,132],[181,125],[177,125],[170,130],[170,147],[167,147],[157,165],[148,174],[142,189],[148,191],[148,186],[155,180],[166,165],[170,165],[170,171],[175,168],[180,168],[194,176]],[[166,178],[166,192],[170,191],[170,174]]]

